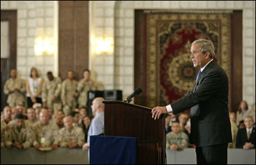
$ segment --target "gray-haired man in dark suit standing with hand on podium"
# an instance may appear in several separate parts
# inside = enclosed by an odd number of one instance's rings
[[[228,77],[213,60],[214,45],[199,39],[191,44],[194,67],[200,67],[189,93],[166,107],[154,107],[152,118],[172,116],[191,108],[191,143],[196,145],[197,164],[227,164],[227,146],[232,142],[228,116]]]

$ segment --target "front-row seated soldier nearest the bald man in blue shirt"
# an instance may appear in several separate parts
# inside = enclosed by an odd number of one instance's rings
[[[59,145],[69,149],[81,147],[85,141],[83,130],[80,127],[73,126],[73,117],[67,116],[64,118],[65,127],[59,132]]]

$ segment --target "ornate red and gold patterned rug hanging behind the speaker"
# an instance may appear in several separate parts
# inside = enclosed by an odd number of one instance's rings
[[[146,27],[149,107],[166,106],[192,89],[199,68],[190,48],[199,38],[212,40],[214,60],[230,81],[230,13],[148,13]]]

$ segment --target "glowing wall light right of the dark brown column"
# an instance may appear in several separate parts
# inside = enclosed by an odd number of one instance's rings
[[[96,54],[112,54],[114,50],[114,41],[110,37],[99,37],[92,41]]]

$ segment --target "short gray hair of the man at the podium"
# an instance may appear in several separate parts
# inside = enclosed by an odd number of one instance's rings
[[[205,40],[205,39],[198,39],[195,40],[194,42],[191,43],[191,45],[195,45],[197,43],[200,43],[200,48],[199,50],[205,54],[205,52],[209,51],[210,52],[210,58],[214,58],[214,44],[210,40]]]

